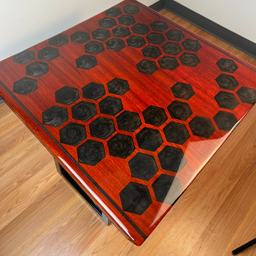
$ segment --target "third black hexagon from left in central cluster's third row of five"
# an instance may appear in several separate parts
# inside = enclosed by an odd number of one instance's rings
[[[119,130],[134,132],[141,126],[141,120],[138,113],[124,110],[116,118],[117,126]]]

